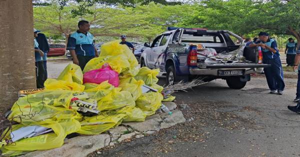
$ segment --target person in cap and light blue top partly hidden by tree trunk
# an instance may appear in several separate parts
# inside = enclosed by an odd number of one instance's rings
[[[38,48],[38,43],[36,41],[37,33],[40,32],[33,28],[34,35],[34,57],[35,57],[35,75],[36,75],[36,87],[42,88],[44,83],[44,67],[42,62],[43,51]]]

